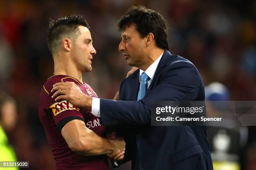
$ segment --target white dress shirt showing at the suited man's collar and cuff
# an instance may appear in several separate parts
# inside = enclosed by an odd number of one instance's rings
[[[154,75],[156,73],[156,68],[157,68],[159,61],[161,60],[161,57],[163,54],[164,54],[164,52],[145,71],[145,73],[148,75],[148,77],[150,77],[150,80],[148,80],[148,82],[147,82],[148,87],[154,78]],[[140,69],[140,77],[139,77],[140,83],[141,83],[141,74],[143,72],[144,71]],[[97,117],[100,117],[100,98],[92,97],[92,114]]]

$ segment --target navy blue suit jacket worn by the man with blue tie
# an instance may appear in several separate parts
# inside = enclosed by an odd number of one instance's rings
[[[154,101],[205,100],[197,68],[165,50],[145,97],[137,101],[139,70],[123,80],[120,100],[100,99],[102,125],[125,125],[125,159],[133,170],[212,170],[205,126],[151,126]]]

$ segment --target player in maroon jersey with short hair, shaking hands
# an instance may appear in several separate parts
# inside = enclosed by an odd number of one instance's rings
[[[123,159],[122,138],[106,139],[105,128],[89,110],[66,100],[54,101],[52,86],[56,82],[75,83],[84,94],[97,97],[82,82],[82,72],[92,70],[92,46],[89,25],[81,15],[50,20],[48,45],[54,59],[54,75],[43,85],[39,118],[56,161],[56,170],[107,170],[106,155]],[[62,91],[61,91],[62,92]]]

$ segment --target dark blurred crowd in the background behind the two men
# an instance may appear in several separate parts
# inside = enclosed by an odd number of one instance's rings
[[[116,23],[129,6],[139,4],[164,15],[169,51],[192,61],[205,85],[221,82],[231,100],[256,100],[254,0],[0,0],[0,91],[14,97],[18,108],[16,126],[7,135],[18,160],[28,160],[31,170],[54,169],[38,119],[42,85],[54,72],[46,40],[49,18],[84,15],[97,54],[83,81],[99,97],[111,99],[130,70],[118,52]],[[254,170],[256,128],[248,129],[241,165]]]

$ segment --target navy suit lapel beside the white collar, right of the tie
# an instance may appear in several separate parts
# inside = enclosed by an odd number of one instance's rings
[[[172,54],[168,50],[165,50],[161,60],[159,61],[159,64],[156,68],[154,78],[153,78],[150,86],[148,87],[147,92],[149,92],[151,90],[151,88],[153,87],[154,82],[156,81],[157,77],[159,76],[159,74],[163,70],[164,66],[167,63],[169,63],[169,61],[171,61],[172,59],[173,59]]]

